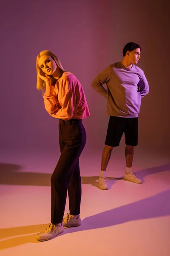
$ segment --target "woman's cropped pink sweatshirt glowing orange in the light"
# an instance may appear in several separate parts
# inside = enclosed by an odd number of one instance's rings
[[[43,98],[46,111],[55,118],[69,120],[90,116],[82,85],[70,72],[64,72],[55,86],[46,86]]]

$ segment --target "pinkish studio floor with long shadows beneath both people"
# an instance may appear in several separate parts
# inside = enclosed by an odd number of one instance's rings
[[[170,157],[136,148],[138,185],[123,180],[123,148],[108,165],[109,189],[96,180],[102,151],[83,152],[82,226],[45,242],[36,234],[50,222],[50,177],[55,154],[12,152],[0,159],[0,256],[169,256]],[[65,214],[68,212],[68,201]]]

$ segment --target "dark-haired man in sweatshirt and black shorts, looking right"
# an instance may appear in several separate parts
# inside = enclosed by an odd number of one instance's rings
[[[142,183],[132,172],[134,146],[138,143],[138,113],[141,98],[149,92],[149,85],[144,72],[136,67],[141,54],[141,47],[128,43],[123,49],[123,60],[109,65],[92,82],[91,86],[100,95],[107,98],[107,114],[110,116],[105,148],[102,154],[102,168],[99,176],[99,187],[107,190],[106,167],[113,147],[119,146],[125,133],[125,180]],[[107,85],[107,90],[103,84]]]

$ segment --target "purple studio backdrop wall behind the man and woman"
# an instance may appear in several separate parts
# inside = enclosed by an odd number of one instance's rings
[[[102,149],[106,100],[90,85],[105,67],[122,60],[122,48],[129,41],[142,47],[139,67],[150,84],[139,115],[139,145],[169,150],[169,3],[128,2],[1,3],[1,150],[49,151],[58,146],[58,120],[45,111],[42,93],[36,90],[36,56],[45,49],[82,83],[91,111],[84,121],[87,148]]]

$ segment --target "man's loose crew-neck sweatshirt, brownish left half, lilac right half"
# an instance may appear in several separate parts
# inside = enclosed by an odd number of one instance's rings
[[[106,83],[107,90],[103,87]],[[132,65],[126,68],[122,62],[109,65],[91,84],[100,95],[107,98],[107,114],[119,117],[137,117],[141,99],[149,92],[144,72]]]

